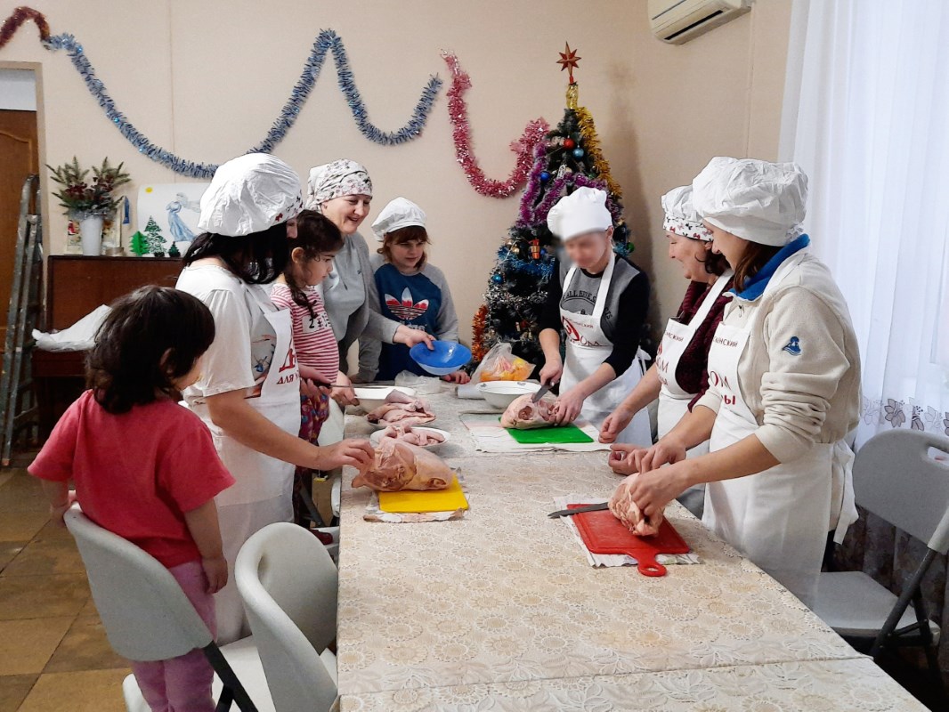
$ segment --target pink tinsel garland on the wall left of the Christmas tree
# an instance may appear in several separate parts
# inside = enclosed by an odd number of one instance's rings
[[[477,193],[488,197],[509,197],[527,177],[534,147],[544,141],[549,124],[543,119],[528,122],[521,138],[511,143],[511,150],[517,156],[511,175],[503,181],[487,178],[474,157],[471,123],[468,121],[468,106],[464,99],[465,92],[472,86],[471,77],[461,68],[453,52],[442,50],[441,56],[452,72],[452,85],[448,89],[448,119],[452,122],[456,160]]]

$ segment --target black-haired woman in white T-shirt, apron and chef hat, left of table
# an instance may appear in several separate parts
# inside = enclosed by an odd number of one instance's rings
[[[215,497],[231,570],[228,585],[215,594],[222,643],[247,633],[233,584],[237,551],[259,529],[293,518],[293,466],[331,470],[373,457],[365,440],[316,447],[297,437],[301,379],[289,311],[273,307],[264,285],[284,271],[287,223],[302,203],[300,178],[282,160],[249,154],[224,163],[201,197],[203,232],[177,281],[177,289],[211,309],[215,329],[185,403],[211,428],[236,480]]]

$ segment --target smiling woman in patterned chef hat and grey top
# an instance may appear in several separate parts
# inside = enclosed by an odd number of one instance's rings
[[[354,160],[334,160],[309,171],[307,208],[326,215],[343,233],[344,246],[333,260],[333,272],[322,285],[326,313],[340,345],[340,370],[348,373],[347,352],[360,337],[377,339],[384,344],[429,344],[435,337],[425,331],[406,327],[386,319],[370,305],[379,301],[369,248],[357,233],[372,200],[372,180],[365,168]],[[370,381],[361,374],[360,381]],[[334,398],[341,404],[352,403],[351,389],[337,389]]]

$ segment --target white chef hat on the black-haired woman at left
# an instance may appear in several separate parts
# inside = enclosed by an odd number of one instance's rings
[[[300,178],[287,163],[249,153],[222,163],[201,196],[198,230],[232,237],[287,222],[303,208]]]

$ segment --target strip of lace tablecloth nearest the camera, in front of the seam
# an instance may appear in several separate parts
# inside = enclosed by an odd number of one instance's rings
[[[341,708],[343,712],[925,710],[867,659],[410,688],[344,695]]]

